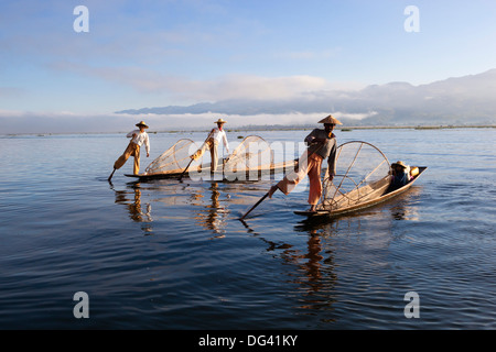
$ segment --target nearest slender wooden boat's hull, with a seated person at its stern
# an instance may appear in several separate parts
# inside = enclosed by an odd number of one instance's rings
[[[412,169],[416,166],[412,166]],[[366,199],[364,199],[364,201],[359,201],[357,204],[351,205],[351,206],[343,206],[343,207],[337,207],[334,208],[333,210],[326,210],[326,209],[319,209],[317,211],[294,211],[295,215],[299,216],[304,216],[304,217],[338,217],[345,213],[351,213],[351,212],[355,212],[365,208],[370,208],[374,207],[378,204],[381,204],[388,199],[391,199],[398,195],[403,194],[405,191],[409,190],[411,188],[411,186],[413,186],[413,184],[417,182],[417,179],[419,179],[420,175],[422,175],[422,173],[427,169],[425,166],[418,166],[419,173],[405,186],[398,188],[398,189],[390,189],[388,184],[385,185],[385,187],[382,188],[382,191],[379,195],[374,195],[373,197],[367,197]],[[380,188],[378,188],[380,189]]]

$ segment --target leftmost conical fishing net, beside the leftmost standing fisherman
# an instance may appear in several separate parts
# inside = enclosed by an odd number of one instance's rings
[[[158,158],[150,163],[145,173],[150,174],[176,174],[182,173],[191,162],[192,151],[198,147],[192,140],[180,140]]]

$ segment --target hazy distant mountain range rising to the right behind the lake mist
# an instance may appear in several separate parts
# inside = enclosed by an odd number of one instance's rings
[[[353,125],[494,124],[496,69],[412,86],[373,85],[356,91],[323,90],[291,100],[222,100],[117,111],[129,114],[207,113],[257,116],[339,112]],[[347,119],[362,116],[363,119]]]

